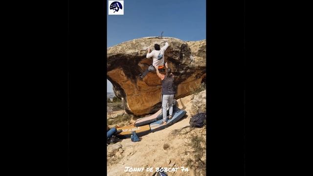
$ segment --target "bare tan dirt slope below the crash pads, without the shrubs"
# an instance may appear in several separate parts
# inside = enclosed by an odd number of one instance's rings
[[[108,149],[110,147],[119,148],[119,152],[114,152],[115,155],[108,157],[108,176],[152,176],[154,172],[146,172],[147,167],[179,167],[177,172],[167,172],[168,176],[195,176],[194,172],[197,166],[195,168],[188,168],[188,172],[182,172],[180,170],[180,167],[187,167],[186,160],[188,158],[193,158],[191,154],[186,153],[186,150],[189,150],[188,146],[186,146],[189,139],[186,136],[191,131],[195,131],[203,134],[205,138],[206,133],[203,128],[193,129],[188,127],[191,96],[179,99],[178,103],[179,108],[186,110],[187,114],[177,123],[164,130],[141,136],[139,142],[132,142],[128,138],[107,147]],[[164,144],[169,147],[164,149]],[[206,159],[203,160],[206,162]],[[124,172],[125,167],[143,167],[145,170],[143,172]],[[201,176],[201,174],[197,176]]]

